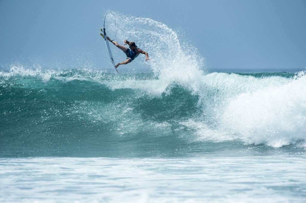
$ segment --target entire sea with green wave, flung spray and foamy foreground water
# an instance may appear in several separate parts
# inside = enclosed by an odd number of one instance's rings
[[[0,71],[1,202],[305,202],[305,71],[209,71],[166,25],[116,17],[150,61]]]

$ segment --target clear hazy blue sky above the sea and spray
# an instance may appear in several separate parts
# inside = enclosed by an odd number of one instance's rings
[[[183,31],[212,71],[306,67],[306,0],[0,0],[0,67],[99,66],[110,10]]]

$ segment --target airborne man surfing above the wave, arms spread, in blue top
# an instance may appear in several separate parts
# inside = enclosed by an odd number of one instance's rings
[[[132,62],[132,60],[134,60],[140,53],[146,55],[146,61],[150,60],[148,58],[149,57],[148,53],[139,49],[135,45],[135,42],[129,42],[127,40],[124,40],[124,45],[126,45],[126,44],[129,45],[129,48],[127,48],[125,46],[119,45],[117,42],[111,40],[109,37],[106,37],[106,39],[108,39],[108,41],[113,43],[115,46],[117,46],[119,49],[121,49],[126,54],[126,61],[122,61],[121,63],[118,63],[117,65],[115,65],[115,68],[117,68],[121,64],[128,64],[128,63]]]

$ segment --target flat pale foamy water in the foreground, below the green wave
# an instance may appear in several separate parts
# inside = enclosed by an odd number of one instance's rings
[[[0,159],[1,202],[295,202],[305,155]]]

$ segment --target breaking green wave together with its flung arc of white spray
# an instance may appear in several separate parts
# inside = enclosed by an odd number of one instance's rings
[[[149,63],[137,58],[131,64],[151,71],[20,64],[1,71],[2,156],[14,150],[21,156],[22,149],[34,156],[35,150],[46,156],[149,156],[178,148],[187,153],[203,143],[211,150],[224,142],[306,146],[305,71],[210,72],[196,49],[166,25],[116,16],[118,41],[134,39],[150,53]]]

